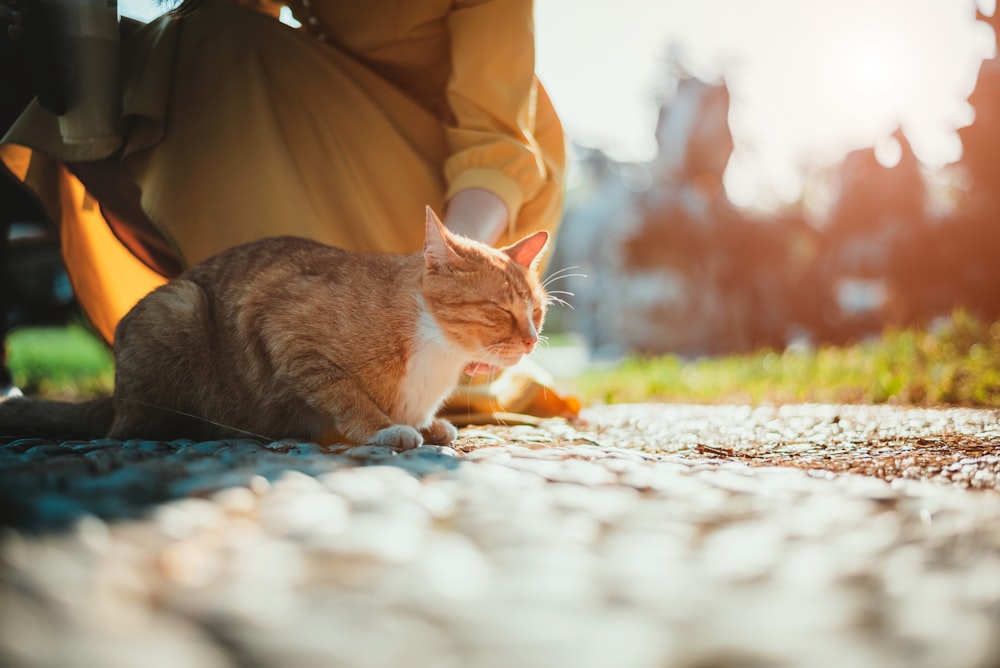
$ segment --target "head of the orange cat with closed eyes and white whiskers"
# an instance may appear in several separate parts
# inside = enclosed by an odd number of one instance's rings
[[[548,242],[540,231],[491,248],[450,232],[427,208],[424,303],[483,370],[515,364],[538,343],[547,298],[536,268]]]

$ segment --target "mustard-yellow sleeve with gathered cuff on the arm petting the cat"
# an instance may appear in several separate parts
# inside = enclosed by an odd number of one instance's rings
[[[548,178],[535,139],[532,0],[458,0],[448,29],[453,118],[446,128],[446,197],[467,188],[489,190],[513,221]]]

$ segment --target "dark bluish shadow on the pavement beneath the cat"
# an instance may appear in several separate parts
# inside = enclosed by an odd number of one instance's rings
[[[0,526],[64,528],[84,515],[139,517],[171,499],[206,496],[286,471],[319,475],[350,466],[388,465],[416,477],[458,465],[454,450],[425,446],[396,454],[375,446],[250,439],[68,441],[20,439],[0,445]]]

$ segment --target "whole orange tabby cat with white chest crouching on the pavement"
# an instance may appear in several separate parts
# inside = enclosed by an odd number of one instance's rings
[[[428,208],[412,255],[294,237],[232,248],[126,314],[112,397],[12,399],[0,435],[450,443],[435,415],[463,371],[509,366],[538,341],[547,243],[541,231],[494,249]]]

